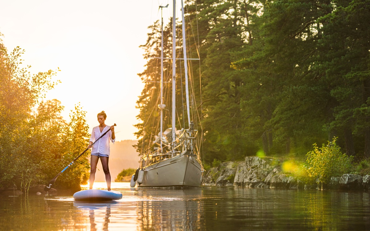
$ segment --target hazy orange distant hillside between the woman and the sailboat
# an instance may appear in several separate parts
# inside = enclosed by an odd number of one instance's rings
[[[132,147],[132,145],[137,144],[137,142],[137,140],[122,140],[114,144],[110,143],[111,154],[109,157],[109,171],[111,173],[112,182],[122,169],[138,168],[139,156],[135,148]],[[97,169],[95,181],[105,181],[105,175],[100,160]]]

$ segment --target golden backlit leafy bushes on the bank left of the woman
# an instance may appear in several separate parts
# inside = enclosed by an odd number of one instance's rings
[[[87,147],[88,126],[80,106],[67,123],[56,99],[42,101],[56,72],[31,75],[21,68],[23,50],[0,51],[0,187],[14,182],[22,188],[46,184]],[[37,107],[34,109],[34,107]],[[87,157],[87,153],[84,157]],[[88,177],[88,160],[81,157],[55,186],[79,187]]]

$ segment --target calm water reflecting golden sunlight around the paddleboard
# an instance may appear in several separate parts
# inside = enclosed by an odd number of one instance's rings
[[[104,188],[105,183],[95,183]],[[370,230],[369,193],[237,187],[139,188],[81,203],[0,195],[0,230]]]

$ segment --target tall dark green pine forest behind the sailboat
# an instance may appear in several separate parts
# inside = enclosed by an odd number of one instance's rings
[[[370,0],[186,4],[188,57],[201,58],[189,61],[189,70],[204,162],[240,160],[259,150],[304,156],[312,143],[333,136],[348,155],[370,157]],[[171,55],[170,28],[164,33],[166,57]],[[145,57],[160,57],[160,25],[149,29]],[[176,66],[184,64],[176,61]],[[171,61],[165,60],[165,81],[171,71]],[[160,60],[148,59],[140,76],[159,81]],[[176,76],[178,127],[186,121],[182,76]],[[167,93],[170,88],[165,85]],[[158,99],[159,84],[147,82],[138,100],[139,151],[158,133],[152,130],[159,121]],[[167,109],[165,117],[171,112]]]

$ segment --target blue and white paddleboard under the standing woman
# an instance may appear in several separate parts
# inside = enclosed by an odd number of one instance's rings
[[[120,200],[122,193],[117,191],[108,191],[100,189],[88,189],[82,190],[73,194],[73,198],[76,201],[108,201],[108,200]]]

